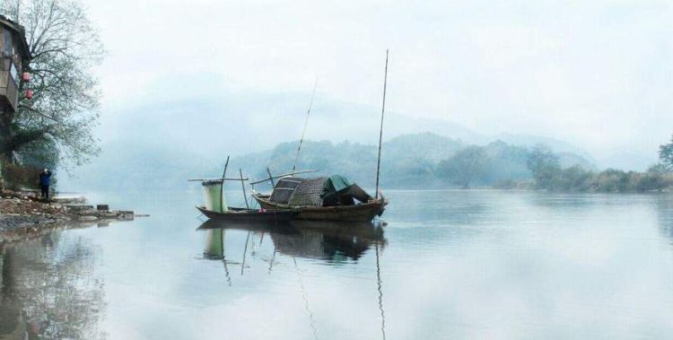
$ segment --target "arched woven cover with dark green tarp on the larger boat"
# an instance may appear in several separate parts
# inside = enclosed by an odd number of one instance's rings
[[[317,179],[279,179],[270,197],[272,202],[293,206],[354,205],[354,199],[367,202],[371,196],[339,175]]]

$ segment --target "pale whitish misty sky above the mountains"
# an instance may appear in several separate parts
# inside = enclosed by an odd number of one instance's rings
[[[673,134],[665,1],[86,0],[109,56],[103,116],[219,93],[307,93],[595,154]],[[305,103],[302,102],[302,105]],[[158,118],[161,119],[161,118]],[[283,142],[283,141],[278,141]]]

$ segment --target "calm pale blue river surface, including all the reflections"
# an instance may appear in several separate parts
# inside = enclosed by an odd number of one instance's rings
[[[387,226],[197,230],[196,190],[96,195],[151,216],[0,246],[0,339],[673,334],[672,195],[387,196]]]

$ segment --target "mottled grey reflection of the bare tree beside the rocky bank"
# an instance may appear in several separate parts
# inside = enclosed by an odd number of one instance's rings
[[[99,251],[60,231],[20,245],[1,244],[0,339],[104,338]]]

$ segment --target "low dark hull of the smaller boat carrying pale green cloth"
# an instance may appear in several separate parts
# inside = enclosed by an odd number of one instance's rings
[[[278,210],[278,209],[245,209],[229,207],[223,213],[208,210],[205,206],[197,206],[197,209],[202,214],[205,214],[209,219],[223,221],[223,222],[264,222],[264,223],[281,223],[289,222],[293,219],[295,214],[299,212],[296,210]]]

